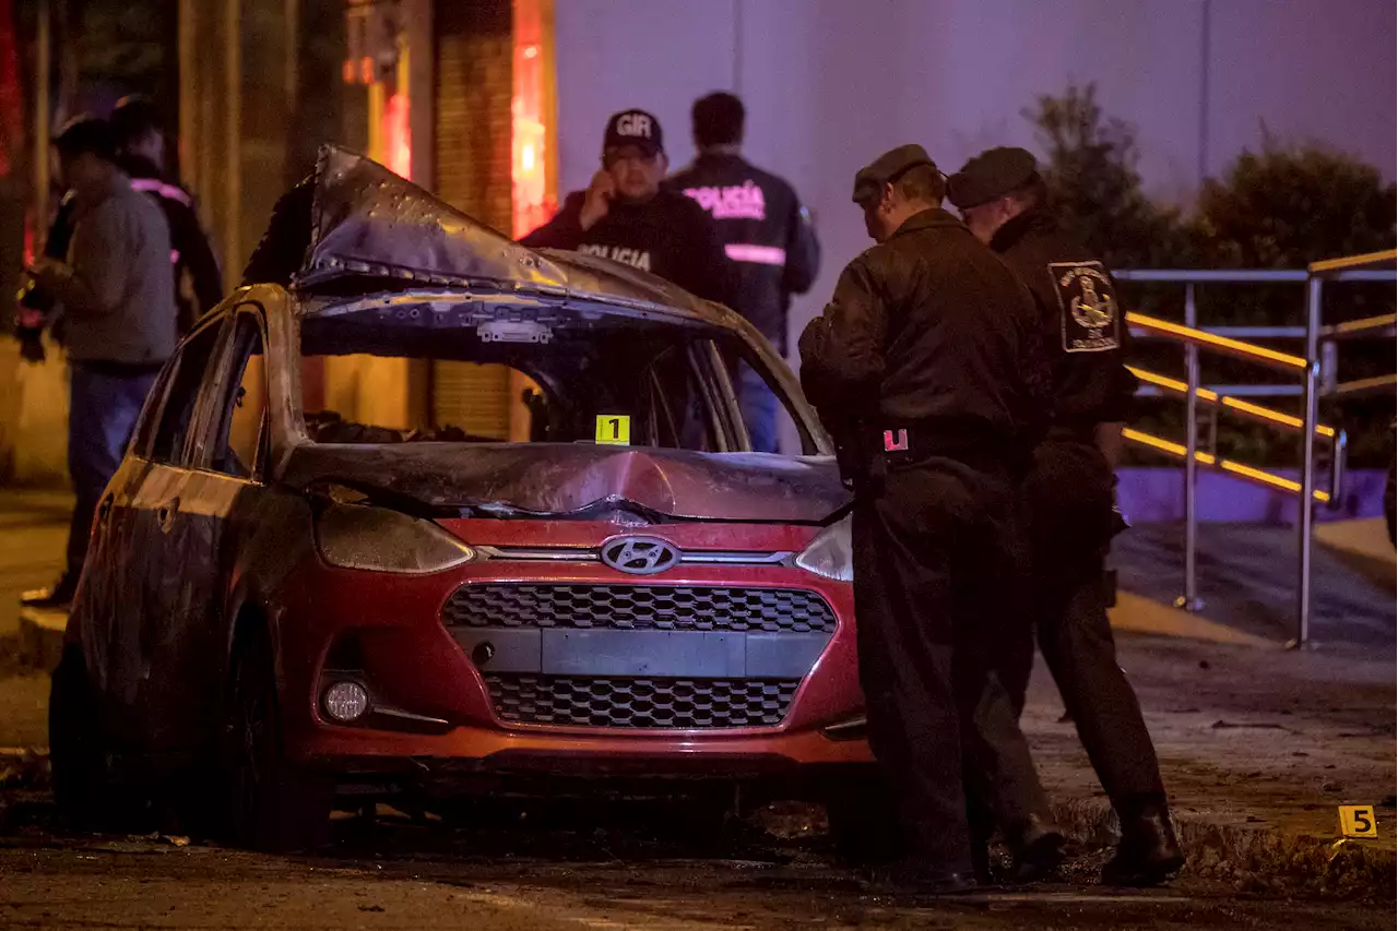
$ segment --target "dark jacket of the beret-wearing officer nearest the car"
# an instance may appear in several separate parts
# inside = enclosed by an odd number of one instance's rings
[[[857,421],[928,447],[1023,449],[1046,382],[1033,299],[945,210],[851,261],[801,335],[801,383],[836,433]]]

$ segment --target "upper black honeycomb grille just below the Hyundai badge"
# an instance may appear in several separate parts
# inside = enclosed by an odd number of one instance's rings
[[[561,583],[467,584],[447,626],[833,633],[825,598],[800,589]]]

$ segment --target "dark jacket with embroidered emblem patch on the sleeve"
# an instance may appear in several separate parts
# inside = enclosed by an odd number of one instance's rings
[[[1053,428],[1090,433],[1131,418],[1125,310],[1111,274],[1042,210],[1001,226],[990,247],[1029,285],[1053,372]]]

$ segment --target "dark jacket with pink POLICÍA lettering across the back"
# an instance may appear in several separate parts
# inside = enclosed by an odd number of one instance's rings
[[[700,155],[667,186],[713,217],[737,274],[734,309],[784,352],[791,295],[809,291],[821,267],[821,245],[795,190],[731,154]]]

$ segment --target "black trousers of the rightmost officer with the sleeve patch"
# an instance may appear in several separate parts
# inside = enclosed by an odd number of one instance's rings
[[[1107,622],[1111,468],[1085,439],[1048,440],[1035,453],[1026,499],[1039,650],[1088,759],[1118,815],[1165,804],[1155,745]],[[1030,654],[1005,671],[1019,710],[1032,665]]]

